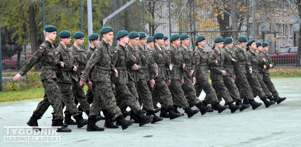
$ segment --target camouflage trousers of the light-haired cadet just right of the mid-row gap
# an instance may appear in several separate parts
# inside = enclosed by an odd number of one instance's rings
[[[207,104],[214,105],[215,103],[219,102],[216,96],[216,92],[208,80],[199,81],[196,79],[194,89],[196,90],[197,97],[199,97],[201,95],[202,90],[204,90],[204,92],[206,93],[206,97],[203,101]]]

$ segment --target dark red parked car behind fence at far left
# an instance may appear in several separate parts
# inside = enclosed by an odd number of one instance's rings
[[[29,60],[31,58],[31,54],[20,54],[20,67],[22,68],[25,65],[25,60]],[[2,70],[5,69],[16,69],[17,68],[17,54],[14,54],[9,59],[2,60]],[[42,68],[41,62],[39,63],[39,69]]]

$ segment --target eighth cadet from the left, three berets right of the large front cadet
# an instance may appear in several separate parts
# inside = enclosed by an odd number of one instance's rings
[[[151,86],[154,87],[155,80],[150,79],[150,74],[155,74],[155,77],[158,76],[158,66],[154,62],[154,59],[151,57],[149,51],[144,49],[144,45],[146,45],[146,33],[139,32],[139,43],[135,50],[138,51],[141,67],[137,70],[139,81],[136,82],[136,88],[139,96],[140,106],[143,104],[146,110],[146,115],[154,115],[153,121],[156,123],[158,121],[163,120],[162,117],[158,117],[156,112],[160,111],[160,108],[154,109],[151,91],[147,86],[147,81],[150,81]],[[136,56],[135,56],[136,57]],[[137,58],[137,57],[136,57]]]

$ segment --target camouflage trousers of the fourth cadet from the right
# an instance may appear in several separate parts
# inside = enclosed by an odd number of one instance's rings
[[[246,73],[237,73],[235,79],[235,85],[239,90],[239,96],[241,99],[254,99],[252,89],[248,83]]]

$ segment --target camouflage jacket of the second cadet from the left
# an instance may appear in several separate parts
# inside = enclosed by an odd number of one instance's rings
[[[65,48],[61,43],[55,48],[57,58],[59,61],[64,62],[64,67],[59,67],[59,69],[65,69],[69,71],[57,70],[57,82],[62,83],[72,83],[72,79],[78,81],[77,73],[73,71],[73,65],[78,67],[75,58],[72,54],[70,48]],[[72,79],[71,79],[72,78]]]

